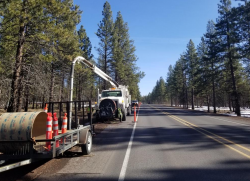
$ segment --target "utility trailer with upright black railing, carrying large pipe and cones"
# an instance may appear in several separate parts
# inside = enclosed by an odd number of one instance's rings
[[[67,106],[67,104],[72,103],[77,105],[76,103],[78,102],[83,103],[82,115],[84,120],[84,102],[88,102],[88,105],[91,106],[91,101],[61,102],[59,107],[61,108],[61,105],[65,103],[66,109],[68,109],[69,106]],[[55,104],[58,104],[58,102],[49,103],[52,113],[54,111]],[[77,109],[75,109],[75,117],[77,117]],[[77,119],[79,120],[79,117]],[[74,125],[76,128],[67,130],[66,133],[60,134],[61,130],[59,130],[59,135],[54,136],[52,139],[39,139],[38,137],[25,141],[0,141],[0,145],[7,147],[11,147],[16,144],[21,145],[20,149],[14,153],[0,153],[0,173],[35,161],[58,157],[74,146],[81,147],[81,153],[83,155],[90,154],[92,149],[92,135],[94,134],[92,113],[91,116],[88,117],[87,123],[80,125],[79,122],[76,122]],[[47,148],[47,145],[50,145],[50,148]]]

